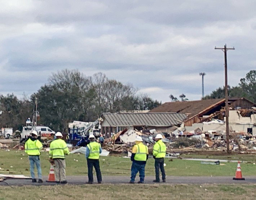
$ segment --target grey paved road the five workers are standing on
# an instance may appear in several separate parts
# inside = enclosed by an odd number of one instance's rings
[[[137,175],[138,176],[138,175]],[[138,181],[139,177],[136,177],[136,182]],[[185,184],[203,184],[203,183],[256,183],[256,176],[244,177],[245,181],[234,181],[232,180],[233,177],[229,176],[217,176],[217,177],[209,177],[209,176],[168,176],[166,177],[166,183],[161,184],[178,184],[178,183],[185,183]],[[120,184],[120,183],[128,183],[129,177],[125,176],[103,176],[103,183],[113,183],[113,184]],[[43,180],[47,180],[47,177],[43,177]],[[69,184],[84,184],[87,182],[87,176],[67,176],[67,181]],[[96,181],[96,177],[94,177],[94,182]],[[154,177],[147,176],[145,178],[145,183],[153,184]],[[39,183],[32,183],[31,180],[5,180],[10,185],[55,185],[56,183],[48,183],[45,182],[42,184]],[[97,181],[96,181],[97,182]],[[4,182],[0,182],[1,185],[6,185]]]

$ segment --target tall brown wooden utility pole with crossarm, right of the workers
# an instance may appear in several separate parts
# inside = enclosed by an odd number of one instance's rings
[[[227,65],[227,51],[229,49],[234,50],[235,48],[227,48],[227,45],[224,45],[224,48],[216,48],[221,49],[224,52],[225,57],[225,116],[226,116],[226,144],[227,144],[227,153],[230,153],[229,150],[229,107],[228,107],[228,65]]]

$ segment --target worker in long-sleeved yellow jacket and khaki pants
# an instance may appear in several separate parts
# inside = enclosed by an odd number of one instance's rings
[[[66,162],[65,155],[69,155],[69,148],[64,140],[62,140],[62,133],[55,134],[56,139],[50,143],[49,158],[55,164],[55,179],[56,183],[66,184]]]

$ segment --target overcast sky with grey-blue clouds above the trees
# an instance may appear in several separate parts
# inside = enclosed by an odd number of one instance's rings
[[[1,0],[0,94],[30,95],[58,70],[132,83],[189,100],[256,69],[255,0]]]

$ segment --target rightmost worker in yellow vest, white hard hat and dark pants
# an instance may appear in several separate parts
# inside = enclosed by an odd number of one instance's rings
[[[166,153],[166,146],[162,141],[163,136],[157,134],[155,136],[155,145],[153,147],[153,158],[155,159],[155,180],[153,182],[160,182],[159,168],[162,173],[162,180],[165,182],[165,171],[164,171],[164,158]]]

